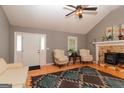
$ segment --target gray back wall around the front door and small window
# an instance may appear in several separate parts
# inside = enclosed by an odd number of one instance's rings
[[[43,33],[47,35],[47,44],[46,47],[49,48],[47,50],[47,63],[52,63],[52,51],[55,48],[64,49],[67,51],[67,37],[68,36],[77,36],[78,37],[78,48],[85,48],[85,36],[81,34],[73,34],[67,32],[58,32],[58,31],[50,31],[43,29],[32,29],[32,28],[24,28],[24,27],[16,27],[11,26],[10,31],[10,60],[13,62],[14,58],[14,32],[31,32],[31,33]]]

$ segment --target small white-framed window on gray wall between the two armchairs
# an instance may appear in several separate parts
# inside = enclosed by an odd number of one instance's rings
[[[68,36],[68,50],[77,50],[77,37]]]

